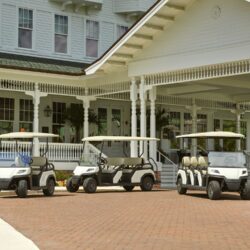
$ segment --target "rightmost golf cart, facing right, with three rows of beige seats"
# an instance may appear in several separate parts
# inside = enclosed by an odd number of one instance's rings
[[[176,136],[187,139],[233,139],[240,140],[244,135],[233,132],[205,132]],[[185,143],[184,143],[185,144]],[[239,192],[241,199],[250,199],[250,180],[246,167],[246,154],[243,151],[207,151],[198,148],[199,155],[190,156],[183,150],[179,157],[177,191],[186,194],[187,190],[207,191],[211,200],[219,199],[221,192]]]

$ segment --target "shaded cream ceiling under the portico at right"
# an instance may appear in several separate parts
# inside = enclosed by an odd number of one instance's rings
[[[250,102],[250,74],[164,85],[158,92],[172,96]]]

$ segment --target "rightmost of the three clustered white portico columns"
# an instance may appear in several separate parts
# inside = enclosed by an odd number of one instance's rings
[[[155,100],[156,100],[156,87],[152,87],[149,91],[150,99],[150,137],[156,137],[156,119],[155,119]],[[156,161],[156,141],[149,143],[149,155]]]

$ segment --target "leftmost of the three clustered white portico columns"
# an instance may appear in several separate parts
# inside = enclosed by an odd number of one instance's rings
[[[131,136],[137,136],[137,118],[136,118],[136,101],[137,101],[137,86],[135,78],[132,79],[130,86],[130,100],[131,100]],[[130,143],[131,157],[138,156],[138,143],[132,141]]]

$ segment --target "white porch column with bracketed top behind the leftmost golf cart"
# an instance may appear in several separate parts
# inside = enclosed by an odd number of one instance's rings
[[[39,132],[39,104],[40,98],[47,96],[47,93],[41,93],[39,90],[38,83],[35,83],[34,91],[26,91],[26,95],[30,95],[33,98],[34,104],[34,117],[33,117],[33,132]],[[40,155],[40,148],[39,148],[39,140],[38,138],[34,138],[33,140],[33,156]]]

